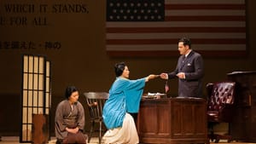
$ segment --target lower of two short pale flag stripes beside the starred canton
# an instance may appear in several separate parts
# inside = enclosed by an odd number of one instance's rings
[[[244,16],[245,10],[166,10],[166,16],[210,16],[210,15],[218,15],[218,16]]]

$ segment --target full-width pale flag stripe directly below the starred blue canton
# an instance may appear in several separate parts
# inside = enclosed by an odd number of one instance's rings
[[[107,22],[109,27],[245,27],[245,21]]]

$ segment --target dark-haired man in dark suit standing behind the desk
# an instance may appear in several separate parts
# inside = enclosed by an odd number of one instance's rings
[[[204,75],[203,59],[191,49],[191,41],[183,37],[178,41],[180,56],[173,72],[161,73],[160,78],[178,78],[179,97],[202,98],[202,78]]]

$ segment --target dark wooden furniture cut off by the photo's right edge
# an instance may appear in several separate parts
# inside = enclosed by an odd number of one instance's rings
[[[256,142],[256,72],[232,72],[227,76],[236,82],[230,134],[236,141]]]

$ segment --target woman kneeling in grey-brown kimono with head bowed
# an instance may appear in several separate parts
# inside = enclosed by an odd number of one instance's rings
[[[66,89],[66,100],[61,101],[55,112],[56,144],[86,143],[84,135],[84,107],[78,101],[79,91],[74,86]]]

